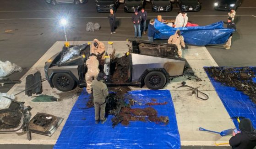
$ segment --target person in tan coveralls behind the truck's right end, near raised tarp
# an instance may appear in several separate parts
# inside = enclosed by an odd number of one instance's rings
[[[185,48],[185,42],[183,36],[180,35],[180,30],[177,30],[174,35],[170,36],[168,39],[169,44],[175,44],[178,47],[178,56],[182,57],[181,46]]]

